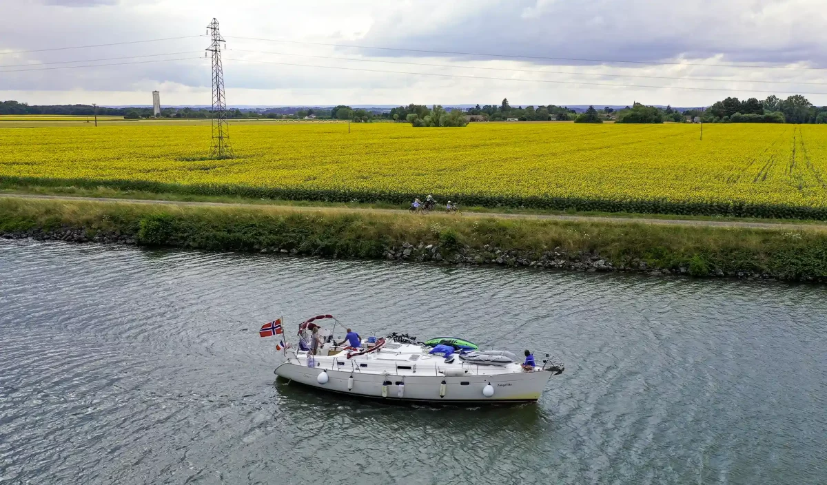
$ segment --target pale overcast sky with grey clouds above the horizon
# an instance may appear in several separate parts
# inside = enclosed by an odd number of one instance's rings
[[[827,104],[824,0],[0,0],[0,100],[208,105],[213,17],[231,105]]]

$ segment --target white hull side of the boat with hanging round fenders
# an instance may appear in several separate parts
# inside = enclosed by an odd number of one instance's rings
[[[516,372],[458,377],[435,375],[388,375],[308,367],[302,359],[288,359],[276,375],[313,388],[358,397],[412,402],[531,402],[537,401],[551,372]],[[327,379],[319,374],[327,373]],[[352,377],[352,380],[351,380]],[[326,381],[321,383],[320,381]],[[490,384],[493,394],[485,396]],[[384,388],[384,389],[383,389]],[[400,390],[401,388],[401,390]],[[400,392],[401,391],[401,392]]]

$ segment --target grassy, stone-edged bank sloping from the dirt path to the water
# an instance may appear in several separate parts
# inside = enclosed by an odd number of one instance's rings
[[[0,200],[0,236],[193,250],[827,283],[827,232]]]

